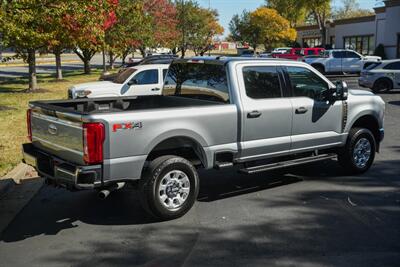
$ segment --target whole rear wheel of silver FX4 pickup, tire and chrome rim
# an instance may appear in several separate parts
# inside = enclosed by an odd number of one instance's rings
[[[194,166],[178,156],[162,156],[150,163],[139,184],[143,207],[153,216],[170,220],[190,210],[199,193]]]

